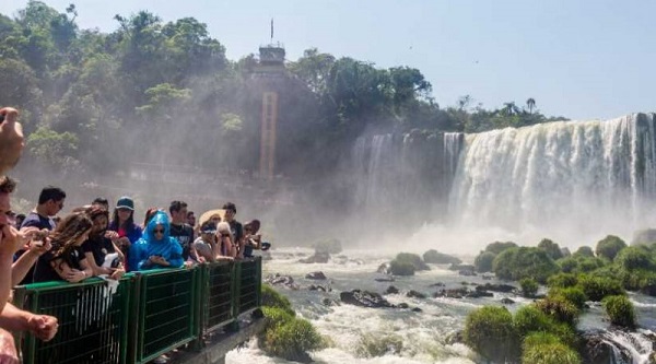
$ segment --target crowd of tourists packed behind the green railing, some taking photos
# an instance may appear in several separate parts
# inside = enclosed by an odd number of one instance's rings
[[[127,196],[117,199],[113,211],[108,200],[98,197],[60,215],[67,193],[48,186],[33,211],[16,214],[10,201],[16,183],[5,173],[24,146],[17,117],[14,108],[0,109],[0,363],[19,363],[12,331],[30,331],[48,341],[58,330],[56,317],[10,303],[17,284],[118,280],[130,271],[243,259],[269,247],[258,233],[260,222],[242,225],[232,202],[197,219],[186,202],[175,200],[166,210],[148,209],[143,224],[138,224],[134,201]]]

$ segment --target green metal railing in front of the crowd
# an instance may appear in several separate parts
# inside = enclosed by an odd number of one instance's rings
[[[14,304],[58,318],[55,339],[16,337],[23,363],[145,363],[173,349],[202,347],[202,334],[230,326],[261,303],[261,259],[104,280],[17,286]]]

